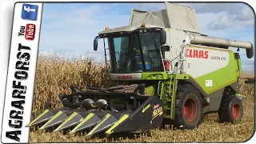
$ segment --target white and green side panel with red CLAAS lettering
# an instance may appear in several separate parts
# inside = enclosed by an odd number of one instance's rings
[[[206,94],[237,81],[232,50],[189,46],[185,50],[186,74],[190,74]]]

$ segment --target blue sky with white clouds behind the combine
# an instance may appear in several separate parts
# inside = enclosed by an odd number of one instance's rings
[[[251,42],[254,46],[254,10],[242,2],[176,2],[195,10],[202,34]],[[105,27],[127,26],[132,8],[166,9],[164,2],[44,3],[39,54],[69,58],[104,58],[102,40],[93,50],[94,38]],[[232,49],[236,51],[236,49]],[[254,71],[254,57],[240,49],[242,68]]]

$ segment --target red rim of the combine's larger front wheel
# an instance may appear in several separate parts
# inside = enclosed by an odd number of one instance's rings
[[[183,106],[183,113],[186,121],[193,122],[197,116],[197,104],[193,98],[188,98]]]

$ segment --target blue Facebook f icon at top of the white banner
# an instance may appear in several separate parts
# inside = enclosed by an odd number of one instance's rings
[[[22,5],[22,19],[35,20],[37,18],[38,6],[23,4]]]

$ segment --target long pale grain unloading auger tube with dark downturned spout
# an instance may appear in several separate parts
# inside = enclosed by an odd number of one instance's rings
[[[250,42],[234,41],[224,38],[214,38],[191,34],[190,43],[244,48],[246,49],[247,58],[252,58],[254,56],[254,47]]]

